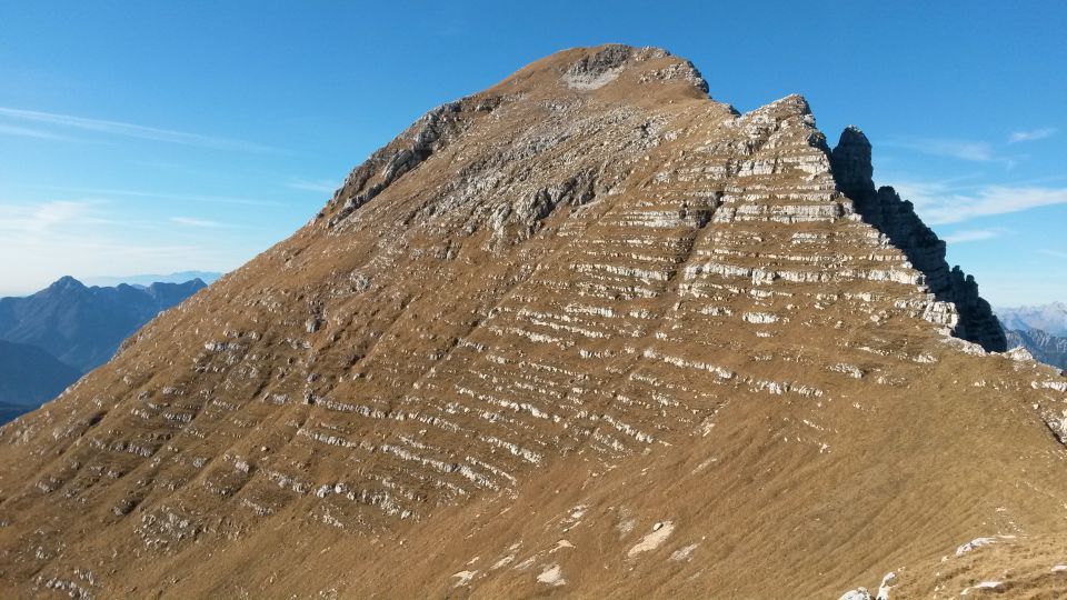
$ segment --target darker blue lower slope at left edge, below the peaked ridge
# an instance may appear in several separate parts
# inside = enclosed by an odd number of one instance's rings
[[[0,423],[56,398],[79,377],[36,346],[0,340]]]

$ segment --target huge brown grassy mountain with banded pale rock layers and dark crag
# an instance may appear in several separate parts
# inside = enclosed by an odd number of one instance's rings
[[[0,429],[3,594],[1063,594],[1067,379],[872,177],[651,48],[439,107]]]

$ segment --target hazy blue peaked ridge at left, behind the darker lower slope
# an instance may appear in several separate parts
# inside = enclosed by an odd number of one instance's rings
[[[107,362],[123,339],[159,312],[203,287],[195,279],[90,288],[64,277],[32,296],[0,298],[0,340],[36,346],[84,373]]]

